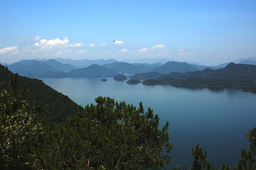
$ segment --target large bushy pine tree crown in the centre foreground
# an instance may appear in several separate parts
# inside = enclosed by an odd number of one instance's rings
[[[50,125],[42,141],[41,168],[159,169],[170,163],[168,122],[158,129],[159,118],[148,108],[97,97],[96,105],[68,123]],[[52,130],[51,130],[52,129]]]

